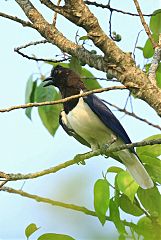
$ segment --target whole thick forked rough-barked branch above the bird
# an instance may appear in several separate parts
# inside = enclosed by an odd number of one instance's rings
[[[48,0],[49,1],[49,0]],[[104,52],[104,57],[90,54],[63,36],[53,25],[50,25],[29,0],[16,0],[26,16],[33,23],[32,27],[49,42],[58,46],[63,52],[77,56],[80,60],[104,72],[110,72],[125,86],[135,84],[137,89],[132,92],[145,100],[161,116],[161,90],[153,85],[147,75],[135,66],[130,54],[123,53],[116,44],[107,37],[100,28],[96,17],[90,12],[82,0],[66,1],[68,6],[57,6],[57,12],[78,26],[83,27],[88,36]],[[55,8],[55,7],[54,7]],[[112,66],[111,66],[112,64]]]

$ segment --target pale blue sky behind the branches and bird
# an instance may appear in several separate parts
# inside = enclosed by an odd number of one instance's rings
[[[41,10],[48,21],[51,21],[53,13],[39,1],[32,1]],[[101,2],[101,1],[99,1]],[[102,1],[103,3],[104,1]],[[158,0],[139,1],[143,12],[151,13],[161,6]],[[125,11],[135,12],[132,1],[111,1],[112,6]],[[91,7],[91,10],[99,17],[99,22],[108,34],[109,12]],[[26,19],[15,1],[0,1],[0,11]],[[148,21],[148,19],[146,19]],[[58,16],[57,27],[64,35],[74,41],[78,27],[73,26],[63,17]],[[136,35],[142,29],[138,18],[127,17],[119,13],[113,14],[113,30],[121,34],[122,41],[118,43],[123,51],[133,51]],[[85,32],[79,29],[80,35]],[[14,52],[14,48],[30,41],[42,39],[41,36],[18,23],[0,18],[0,56],[1,56],[1,77],[0,77],[0,108],[24,103],[25,87],[29,76],[35,73],[38,76],[39,70],[48,75],[51,66],[40,63],[39,65],[31,60],[22,58]],[[138,45],[143,46],[146,35],[141,33]],[[89,46],[90,48],[90,46]],[[137,63],[143,64],[141,52],[137,52]],[[38,57],[54,58],[60,51],[50,44],[39,45],[25,50],[28,54],[35,54]],[[104,73],[91,69],[96,77],[105,77]],[[103,83],[106,86],[107,83]],[[110,84],[109,84],[110,85]],[[123,93],[100,94],[101,98],[124,106],[127,95]],[[130,109],[130,104],[128,105]],[[134,111],[152,122],[160,124],[153,109],[145,102],[133,99]],[[130,117],[123,117],[122,114],[114,111],[123,126],[126,128],[132,141],[140,141],[148,136],[159,133],[158,130],[147,126]],[[61,162],[72,159],[77,153],[88,151],[87,148],[67,136],[61,128],[58,129],[54,138],[43,127],[39,119],[37,109],[33,110],[32,121],[27,119],[24,110],[16,110],[10,113],[3,113],[0,116],[1,128],[1,154],[0,171],[7,173],[28,173],[36,172]],[[35,180],[19,181],[7,184],[7,186],[28,191],[40,196],[53,198],[54,200],[75,203],[93,209],[93,186],[98,178],[102,177],[102,171],[111,165],[118,165],[116,161],[102,157],[93,158],[85,166],[72,166],[57,174],[42,177]],[[112,177],[111,177],[112,179]],[[33,200],[25,199],[9,193],[0,192],[1,219],[0,219],[0,240],[1,239],[24,239],[25,227],[34,222],[41,226],[39,234],[45,232],[57,232],[69,234],[77,240],[84,239],[105,239],[113,234],[115,228],[106,223],[101,226],[96,218],[86,216],[69,210],[51,207],[49,205],[36,203]],[[127,216],[129,220],[130,216]],[[90,229],[90,231],[89,231]],[[108,233],[108,234],[107,234]],[[38,235],[39,235],[38,234]],[[36,236],[34,235],[34,239]]]

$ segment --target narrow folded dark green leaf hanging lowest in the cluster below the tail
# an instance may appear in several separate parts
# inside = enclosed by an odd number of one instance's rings
[[[123,235],[126,233],[125,226],[123,222],[120,219],[120,213],[119,213],[119,207],[116,204],[116,202],[112,199],[110,199],[109,204],[110,209],[110,218],[112,219],[113,223],[115,224],[118,232]]]

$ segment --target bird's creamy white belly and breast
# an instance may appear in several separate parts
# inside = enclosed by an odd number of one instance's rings
[[[107,144],[115,137],[82,98],[68,113],[67,119],[74,131],[84,138],[92,149]]]

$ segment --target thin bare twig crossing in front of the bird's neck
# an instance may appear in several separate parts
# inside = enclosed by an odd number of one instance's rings
[[[9,108],[0,109],[0,112],[1,113],[2,112],[10,112],[10,111],[15,110],[15,109],[22,109],[22,108],[28,108],[28,107],[40,107],[40,106],[47,106],[47,105],[55,105],[55,104],[65,103],[65,102],[71,101],[71,100],[76,99],[76,98],[85,97],[85,96],[88,96],[92,93],[102,93],[102,92],[105,92],[105,91],[116,90],[116,89],[117,90],[125,90],[125,89],[128,89],[128,88],[126,88],[124,86],[113,86],[113,87],[107,87],[107,88],[99,88],[99,89],[91,90],[91,91],[88,91],[88,92],[80,93],[80,94],[77,94],[77,95],[73,95],[71,97],[56,100],[56,101],[47,101],[47,102],[40,102],[40,103],[27,103],[27,104],[12,106],[12,107],[9,107]]]

